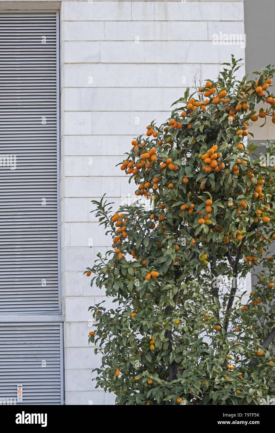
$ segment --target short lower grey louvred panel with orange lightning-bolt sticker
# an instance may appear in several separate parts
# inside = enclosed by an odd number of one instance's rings
[[[2,404],[63,404],[62,324],[0,325]],[[17,401],[22,385],[22,402]]]

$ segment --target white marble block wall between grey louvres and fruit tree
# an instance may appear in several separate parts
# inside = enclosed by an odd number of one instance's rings
[[[131,194],[134,188],[115,165],[132,137],[151,120],[165,120],[196,73],[215,78],[231,53],[244,57],[238,45],[213,45],[220,31],[244,33],[242,0],[61,2],[66,404],[113,404],[91,381],[99,357],[87,345],[87,310],[104,292],[90,288],[83,271],[109,239],[90,214],[90,200],[106,192],[117,206]]]

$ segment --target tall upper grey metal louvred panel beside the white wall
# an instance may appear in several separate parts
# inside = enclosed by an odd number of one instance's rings
[[[0,13],[0,314],[60,312],[58,32]]]

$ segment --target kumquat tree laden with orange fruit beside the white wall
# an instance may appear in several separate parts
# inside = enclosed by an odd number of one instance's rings
[[[275,123],[275,69],[239,81],[240,60],[187,88],[167,122],[132,141],[121,169],[151,208],[114,214],[94,201],[113,250],[85,273],[117,307],[89,308],[89,343],[102,355],[96,387],[116,404],[275,398],[275,143],[259,156],[249,136],[253,122]],[[240,281],[258,265],[249,293]]]

